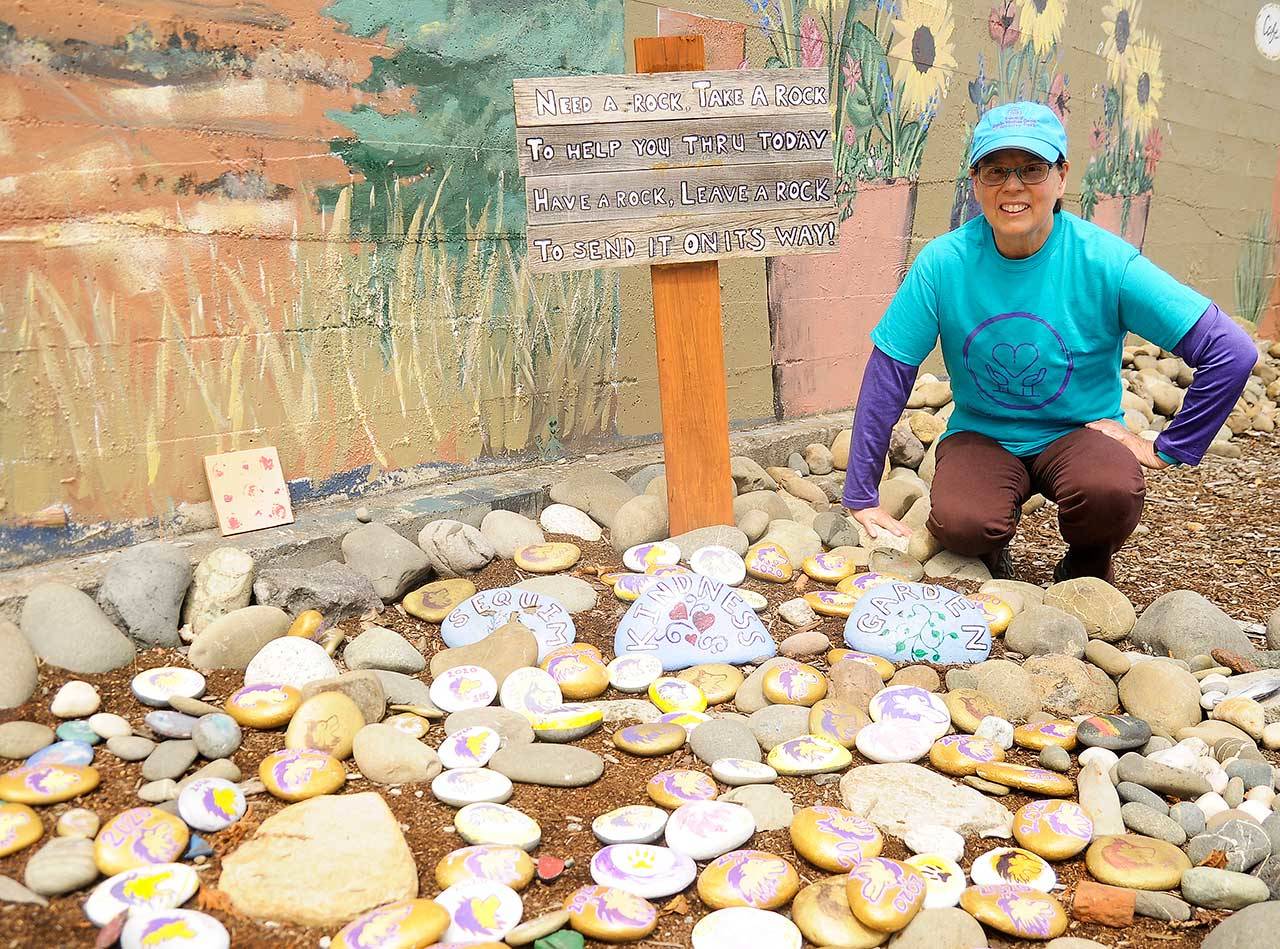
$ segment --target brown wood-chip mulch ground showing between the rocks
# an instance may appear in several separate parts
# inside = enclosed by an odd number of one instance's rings
[[[1175,589],[1197,590],[1234,617],[1254,622],[1265,621],[1280,604],[1280,556],[1277,556],[1280,555],[1280,516],[1277,516],[1280,465],[1276,464],[1280,458],[1280,435],[1245,437],[1238,441],[1244,450],[1242,460],[1207,458],[1197,469],[1179,467],[1151,474],[1142,526],[1121,552],[1117,562],[1117,585],[1139,610],[1160,594]],[[621,566],[620,558],[607,544],[582,544],[582,548],[584,556],[577,571],[586,579],[593,578],[582,567]],[[1019,579],[1048,583],[1061,552],[1062,543],[1057,535],[1051,505],[1023,519],[1014,546],[1014,562]],[[520,579],[522,574],[511,561],[494,562],[475,578],[481,589],[507,585]],[[945,583],[964,592],[977,588],[977,584],[965,581]],[[810,588],[820,587],[804,578],[785,585],[753,580],[746,585],[768,597],[771,604],[777,604],[796,596],[797,588],[806,584]],[[605,588],[602,587],[600,592],[599,604],[590,612],[575,617],[577,638],[580,642],[598,645],[605,656],[612,656],[613,633],[626,611],[626,604],[616,601]],[[764,619],[778,640],[794,631],[776,619],[772,611]],[[440,648],[435,626],[406,616],[398,607],[387,610],[378,621],[403,633],[428,656]],[[351,634],[356,634],[360,622],[352,620],[344,626]],[[829,637],[833,645],[842,645],[842,621],[827,619],[819,629]],[[993,654],[998,656],[1002,652],[1002,642],[997,640]],[[178,651],[152,649],[140,653],[136,663],[128,669],[84,679],[101,690],[102,711],[116,712],[131,722],[141,724],[142,716],[148,710],[133,698],[128,688],[129,680],[142,670],[182,661],[183,657]],[[824,663],[818,661],[815,665]],[[940,672],[945,672],[945,669],[940,669]],[[22,708],[0,712],[0,721],[27,718],[56,725],[56,720],[49,712],[49,703],[58,688],[70,677],[73,676],[59,670],[42,670],[41,688],[35,699]],[[220,704],[241,681],[242,676],[237,672],[223,671],[210,675],[206,699]],[[613,694],[611,690],[602,698],[623,698],[623,695]],[[731,710],[732,706],[719,708]],[[526,920],[558,908],[572,890],[591,882],[589,863],[599,847],[590,830],[591,818],[622,804],[649,803],[644,791],[645,781],[663,768],[705,770],[687,748],[660,758],[626,756],[612,747],[611,734],[612,729],[607,726],[580,742],[584,747],[605,756],[609,762],[604,776],[589,788],[562,790],[516,785],[511,806],[534,817],[543,829],[543,843],[536,853],[573,859],[572,868],[557,882],[543,885],[535,881],[521,894]],[[443,726],[435,724],[426,742],[434,747],[443,736]],[[246,779],[253,777],[259,762],[282,745],[283,730],[246,730],[244,743],[236,753],[234,761]],[[1267,753],[1267,757],[1274,765],[1280,765],[1280,757],[1276,754]],[[1014,749],[1010,761],[1034,763],[1034,756],[1030,752]],[[869,762],[855,752],[854,766],[865,763]],[[127,763],[100,750],[96,766],[102,774],[102,783],[97,790],[65,804],[42,808],[47,832],[52,832],[59,815],[72,807],[91,807],[106,820],[122,809],[141,803],[134,797],[134,791],[142,784],[141,762]],[[348,771],[353,771],[352,762],[348,762]],[[1071,776],[1075,774],[1073,768]],[[819,785],[809,777],[782,777],[778,780],[778,786],[795,797],[796,806],[840,804],[838,783]],[[449,850],[463,845],[452,826],[454,809],[438,803],[425,786],[384,788],[356,777],[348,781],[347,789],[375,790],[384,795],[404,827],[406,839],[417,861],[421,894],[434,895],[438,891],[434,879],[436,863]],[[1030,799],[1012,793],[1004,798],[1002,803],[1012,811]],[[207,835],[215,854],[200,864],[202,889],[191,905],[205,908],[221,920],[232,934],[232,944],[237,948],[317,946],[324,936],[333,935],[244,918],[234,913],[225,896],[216,890],[221,856],[233,850],[262,818],[283,807],[284,802],[275,800],[268,794],[255,795],[251,798],[251,811],[243,821],[219,834]],[[977,854],[1005,843],[969,840],[964,866],[968,867]],[[822,871],[794,854],[786,831],[758,834],[749,845],[791,859],[804,884],[824,876]],[[0,859],[0,875],[20,881],[26,862],[37,848],[38,844]],[[909,856],[896,839],[886,839],[884,853],[897,858]],[[1070,907],[1074,885],[1085,875],[1084,861],[1076,858],[1061,862],[1055,864],[1055,870],[1060,884],[1065,885],[1057,895],[1064,905]],[[50,949],[92,946],[97,930],[86,920],[81,908],[86,896],[87,891],[61,896],[54,899],[49,908],[0,904],[0,934],[3,934],[0,945]],[[684,895],[662,902],[659,909],[660,921],[657,931],[637,945],[689,946],[694,923],[708,912],[692,888]],[[1139,918],[1124,930],[1073,921],[1066,935],[1085,936],[1107,946],[1126,949],[1193,949],[1201,944],[1221,916],[1221,913],[1197,911],[1192,921],[1183,925]],[[995,932],[988,935],[992,946],[1034,945],[1010,940]],[[600,944],[589,941],[589,945]]]

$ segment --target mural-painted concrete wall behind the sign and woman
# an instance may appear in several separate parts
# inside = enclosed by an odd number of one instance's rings
[[[631,69],[635,36],[699,32],[712,68],[833,77],[841,251],[721,268],[736,425],[850,406],[911,255],[969,213],[979,108],[1012,97],[1064,114],[1069,207],[1274,328],[1280,63],[1254,44],[1257,14],[1240,0],[13,8],[0,566],[207,524],[201,460],[219,451],[278,447],[306,505],[655,437],[648,275],[527,273],[509,101],[516,76]]]

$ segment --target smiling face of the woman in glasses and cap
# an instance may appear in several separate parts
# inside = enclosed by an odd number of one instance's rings
[[[986,155],[978,165],[1023,168],[1042,160],[1021,149],[1001,149]],[[1069,168],[1065,160],[1061,166],[1051,164],[1048,178],[1039,184],[1025,184],[1016,174],[1010,174],[997,186],[983,184],[975,170],[969,169],[973,192],[995,232],[996,247],[1006,257],[1029,257],[1048,239],[1053,231],[1053,205],[1066,191]]]

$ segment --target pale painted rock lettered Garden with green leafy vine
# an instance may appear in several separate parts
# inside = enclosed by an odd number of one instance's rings
[[[859,598],[845,642],[896,662],[982,662],[991,654],[991,629],[975,603],[946,587],[901,580]]]

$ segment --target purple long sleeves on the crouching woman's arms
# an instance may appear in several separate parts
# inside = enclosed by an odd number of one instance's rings
[[[1231,414],[1258,352],[1248,334],[1216,304],[1210,304],[1174,347],[1174,355],[1196,370],[1196,379],[1178,415],[1156,438],[1156,452],[1170,464],[1196,465]],[[890,433],[906,407],[919,371],[919,366],[872,348],[858,393],[845,471],[844,505],[851,511],[879,505],[879,478]]]

